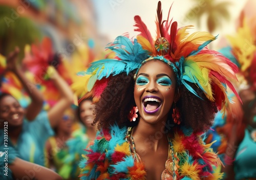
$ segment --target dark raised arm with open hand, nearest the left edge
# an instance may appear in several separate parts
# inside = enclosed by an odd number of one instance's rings
[[[29,94],[31,98],[31,103],[27,107],[26,118],[29,121],[32,121],[35,119],[38,113],[40,113],[42,109],[42,105],[44,103],[44,99],[40,91],[37,89],[37,87],[26,78],[22,70],[19,68],[17,63],[18,53],[19,53],[19,49],[15,48],[15,50],[7,56],[6,72],[7,71],[13,72],[16,75],[16,77],[19,79],[19,81],[22,83],[27,93]]]

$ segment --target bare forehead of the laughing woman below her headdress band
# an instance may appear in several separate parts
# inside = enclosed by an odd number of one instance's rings
[[[155,59],[145,62],[138,71],[138,75],[140,73],[146,73],[153,76],[164,73],[170,77],[175,77],[173,69],[168,64]]]

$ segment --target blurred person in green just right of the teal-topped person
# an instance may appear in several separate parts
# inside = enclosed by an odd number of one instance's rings
[[[75,110],[70,107],[65,111],[61,121],[54,128],[55,135],[46,142],[46,167],[57,172],[63,179],[78,179],[78,166],[75,164],[79,160],[74,159],[71,162],[66,162],[68,156],[73,155],[70,153],[70,146],[67,145],[67,141],[73,138],[72,126],[75,122]]]

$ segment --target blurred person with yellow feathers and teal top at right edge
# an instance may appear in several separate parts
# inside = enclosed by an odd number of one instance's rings
[[[233,123],[227,131],[225,153],[234,161],[223,168],[225,179],[256,179],[256,36],[253,24],[248,23],[255,17],[241,16],[242,23],[237,33],[228,37],[229,51],[225,52],[239,66],[237,86],[243,103],[242,125]]]

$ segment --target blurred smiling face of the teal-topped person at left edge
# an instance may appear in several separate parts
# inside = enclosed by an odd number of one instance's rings
[[[8,126],[21,126],[24,118],[24,108],[12,96],[5,96],[0,101],[0,119],[8,122]]]

